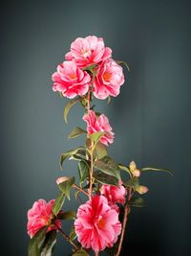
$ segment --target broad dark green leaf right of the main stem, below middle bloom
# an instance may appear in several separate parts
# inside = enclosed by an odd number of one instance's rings
[[[103,158],[95,162],[95,168],[105,173],[106,175],[112,175],[120,179],[119,167],[111,157],[104,156]]]

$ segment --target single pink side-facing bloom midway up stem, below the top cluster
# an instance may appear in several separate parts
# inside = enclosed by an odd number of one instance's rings
[[[90,110],[89,114],[83,116],[83,120],[87,122],[87,130],[89,134],[97,131],[105,131],[106,133],[100,138],[100,142],[105,145],[109,145],[114,142],[115,133],[109,124],[108,118],[101,114],[96,117],[96,113]]]

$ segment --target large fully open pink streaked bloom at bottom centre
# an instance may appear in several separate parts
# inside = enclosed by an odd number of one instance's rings
[[[96,196],[80,205],[76,216],[75,233],[83,247],[93,248],[97,252],[117,242],[121,223],[117,211],[108,205],[107,198]]]

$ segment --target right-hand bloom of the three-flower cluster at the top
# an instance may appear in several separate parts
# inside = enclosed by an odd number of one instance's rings
[[[109,58],[105,60],[97,70],[94,95],[97,99],[104,100],[108,96],[117,97],[120,85],[124,82],[124,75],[121,66]]]

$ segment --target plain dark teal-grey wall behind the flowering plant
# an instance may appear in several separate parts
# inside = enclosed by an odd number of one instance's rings
[[[132,211],[123,255],[190,255],[190,4],[189,1],[3,1],[1,4],[1,255],[25,256],[26,214],[34,200],[55,198],[55,178],[75,175],[58,165],[83,140],[75,107],[52,92],[51,76],[77,36],[102,36],[131,73],[110,105],[97,102],[116,132],[118,162],[171,169],[147,174],[146,207]],[[73,207],[75,202],[67,202]],[[65,225],[64,228],[68,228]],[[62,241],[62,240],[61,240]],[[60,243],[56,256],[69,255]]]

